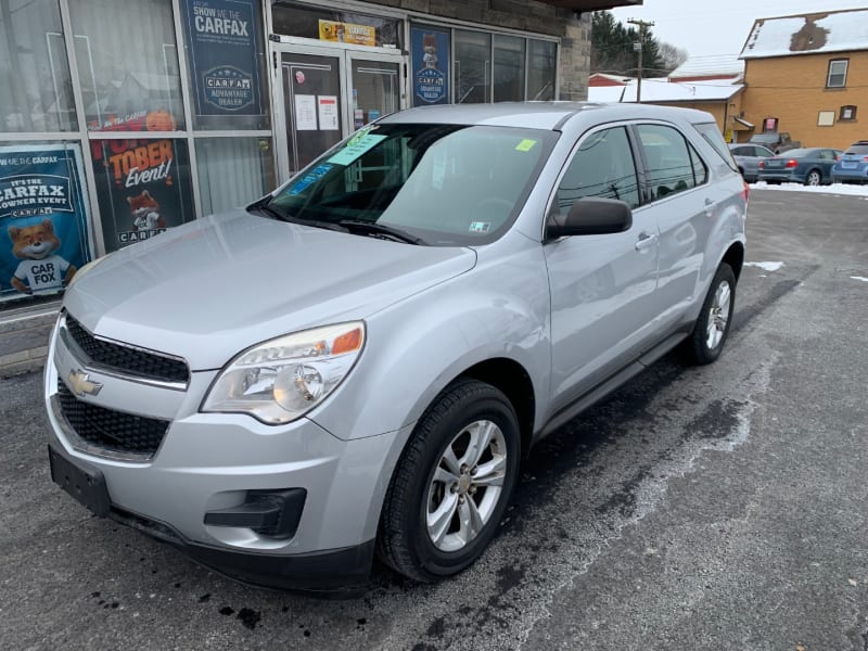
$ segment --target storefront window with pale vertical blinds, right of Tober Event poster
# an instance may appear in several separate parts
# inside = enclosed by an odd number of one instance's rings
[[[276,186],[270,138],[200,138],[196,169],[204,215],[251,203]]]

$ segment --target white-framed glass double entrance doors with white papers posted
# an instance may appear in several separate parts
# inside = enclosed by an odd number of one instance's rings
[[[275,48],[282,94],[275,119],[284,127],[278,148],[281,181],[356,129],[405,104],[400,52]]]

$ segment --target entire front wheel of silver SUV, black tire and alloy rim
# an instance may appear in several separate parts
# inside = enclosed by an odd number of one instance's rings
[[[515,411],[497,388],[460,380],[429,407],[386,492],[378,553],[422,582],[457,574],[497,533],[519,475]]]

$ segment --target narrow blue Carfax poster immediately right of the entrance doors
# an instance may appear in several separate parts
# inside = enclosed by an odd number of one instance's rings
[[[449,33],[413,26],[410,29],[413,106],[449,103]]]

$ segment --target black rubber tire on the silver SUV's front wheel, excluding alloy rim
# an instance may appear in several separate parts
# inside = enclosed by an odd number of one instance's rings
[[[503,444],[506,454],[502,486],[499,494],[490,494],[487,502],[490,505],[488,518],[475,537],[469,537],[467,544],[458,550],[444,551],[429,534],[426,521],[429,506],[439,492],[434,473],[441,468],[447,447],[455,450],[456,442],[460,442],[467,429],[481,421],[494,423],[502,433],[500,443]],[[499,447],[486,448],[482,459],[487,459],[485,455],[492,455],[490,458],[494,459],[495,449],[499,450]],[[449,385],[419,420],[398,460],[380,516],[378,556],[400,574],[425,583],[451,576],[468,567],[482,556],[497,533],[515,488],[520,455],[521,434],[515,410],[500,391],[475,380],[459,380]],[[483,467],[483,463],[477,463],[478,468]],[[457,495],[456,500],[463,498],[468,501],[467,507],[463,501],[460,502],[462,506],[457,507],[458,509],[468,509],[469,501],[473,500],[473,510],[478,513],[476,500],[485,505],[489,488],[483,486],[478,490],[475,485],[471,485],[473,494],[463,493],[470,490],[467,481],[472,478],[469,471],[461,476],[465,480],[464,484],[454,484],[457,488],[449,490],[449,495],[445,490],[439,493],[439,499],[443,500],[441,506],[451,500],[451,495]],[[458,524],[454,519],[459,513],[456,510],[454,515],[443,519],[443,522],[449,522],[447,531]],[[458,536],[450,535],[452,538]]]

